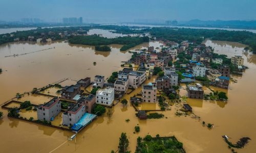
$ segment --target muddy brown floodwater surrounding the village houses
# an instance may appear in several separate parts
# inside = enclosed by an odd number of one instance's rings
[[[159,42],[144,43],[136,48],[148,45],[158,46]],[[250,137],[252,140],[239,152],[254,152],[256,150],[256,84],[254,77],[256,71],[256,57],[250,53],[243,53],[245,46],[239,43],[206,41],[207,45],[214,46],[216,50],[228,56],[242,55],[244,65],[249,69],[243,77],[236,78],[237,83],[230,83],[227,103],[221,101],[188,99],[196,115],[201,121],[190,116],[175,116],[175,106],[163,114],[167,118],[139,120],[130,104],[123,108],[116,105],[113,116],[98,117],[85,127],[76,137],[75,141],[67,141],[73,133],[56,130],[17,119],[7,118],[7,111],[0,121],[1,152],[110,152],[117,150],[119,137],[126,132],[130,141],[129,150],[135,151],[137,137],[146,134],[155,136],[173,136],[184,144],[187,152],[230,152],[222,135],[228,135],[232,142],[241,137]],[[111,45],[112,52],[95,52],[92,46],[69,45],[63,42],[38,45],[31,43],[8,43],[0,46],[0,67],[4,70],[0,74],[0,101],[15,96],[17,92],[31,91],[34,87],[42,87],[64,78],[78,80],[96,74],[110,76],[113,71],[120,68],[120,61],[131,57],[127,52],[120,52],[121,45]],[[7,55],[20,54],[55,47],[44,52],[28,54],[25,56],[9,57]],[[236,52],[237,50],[237,52]],[[93,65],[96,62],[96,66]],[[149,81],[147,81],[149,82]],[[135,90],[130,96],[138,93]],[[218,89],[216,89],[218,90]],[[27,96],[33,100],[32,96]],[[39,98],[43,100],[44,98]],[[24,99],[25,100],[25,99]],[[39,101],[38,103],[40,103]],[[36,103],[36,102],[35,102]],[[130,122],[125,122],[130,119]],[[213,123],[214,128],[208,130],[201,122]],[[140,132],[133,134],[134,126],[139,124]]]

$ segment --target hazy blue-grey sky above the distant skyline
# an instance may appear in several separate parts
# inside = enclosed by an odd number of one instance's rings
[[[79,16],[84,22],[256,20],[256,0],[0,0],[0,20]]]

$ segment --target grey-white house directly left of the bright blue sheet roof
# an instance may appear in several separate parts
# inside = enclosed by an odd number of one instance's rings
[[[86,106],[82,103],[76,103],[68,111],[62,114],[62,124],[71,126],[78,122],[78,120],[86,113]]]

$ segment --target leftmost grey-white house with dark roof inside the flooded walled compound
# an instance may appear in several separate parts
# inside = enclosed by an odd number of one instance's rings
[[[55,97],[37,108],[37,119],[51,121],[61,111],[59,98]]]

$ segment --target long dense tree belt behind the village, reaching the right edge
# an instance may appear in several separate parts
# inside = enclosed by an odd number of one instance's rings
[[[152,37],[175,42],[188,40],[201,44],[204,38],[221,41],[234,41],[249,45],[252,52],[256,54],[256,34],[248,31],[227,31],[227,30],[206,30],[206,29],[185,29],[185,28],[152,28]]]

